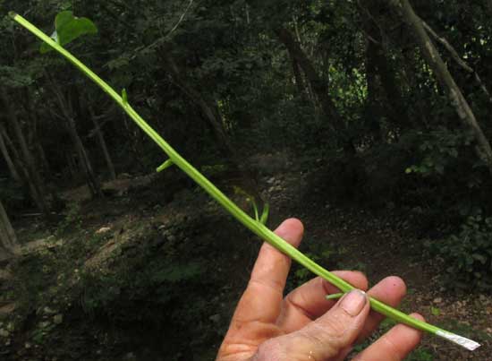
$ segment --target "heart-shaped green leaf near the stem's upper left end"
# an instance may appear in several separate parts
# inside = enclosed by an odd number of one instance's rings
[[[56,15],[55,31],[51,35],[51,39],[54,39],[63,47],[82,35],[96,34],[97,32],[98,28],[94,25],[94,22],[88,18],[78,18],[73,16],[72,12],[66,11]],[[46,43],[41,45],[41,53],[47,53],[51,50],[52,48]]]

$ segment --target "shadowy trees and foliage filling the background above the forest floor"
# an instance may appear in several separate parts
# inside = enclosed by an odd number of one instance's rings
[[[101,197],[105,180],[162,162],[101,91],[55,54],[41,56],[6,16],[15,10],[51,33],[55,14],[71,10],[98,34],[68,47],[126,89],[194,164],[227,163],[255,178],[251,156],[288,151],[316,170],[321,198],[415,214],[425,234],[445,229],[436,249],[451,271],[490,286],[490,2],[3,0],[0,8],[0,198],[13,217],[37,208],[50,219],[67,187],[87,184]],[[460,232],[467,250],[448,237]],[[458,262],[462,254],[471,261]]]

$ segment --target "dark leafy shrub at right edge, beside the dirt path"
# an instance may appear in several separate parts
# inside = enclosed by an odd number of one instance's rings
[[[491,217],[478,212],[467,218],[459,233],[429,247],[443,258],[452,287],[492,289]]]

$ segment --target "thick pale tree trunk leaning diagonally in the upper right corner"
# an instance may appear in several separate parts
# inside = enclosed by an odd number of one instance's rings
[[[394,4],[393,1],[390,1],[390,3]],[[436,73],[438,82],[447,92],[456,113],[462,120],[462,123],[470,127],[475,134],[475,140],[479,146],[479,158],[486,162],[488,170],[492,175],[492,148],[490,147],[487,137],[477,122],[468,101],[464,98],[462,90],[460,90],[456,82],[454,82],[454,78],[451,73],[449,73],[449,70],[447,69],[442,57],[437,52],[437,48],[428,37],[428,33],[424,29],[422,21],[419,16],[413,12],[410,2],[408,0],[400,0],[400,5],[403,9],[404,20],[410,25],[411,30],[415,33],[422,54],[428,61],[432,71]]]

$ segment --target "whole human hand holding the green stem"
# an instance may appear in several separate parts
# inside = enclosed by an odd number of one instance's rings
[[[294,246],[300,245],[302,233],[298,219],[284,220],[276,228],[276,234]],[[290,267],[289,257],[271,245],[262,245],[216,361],[342,361],[352,346],[367,338],[384,318],[370,310],[367,295],[397,306],[406,292],[402,279],[388,277],[366,295],[361,291],[368,288],[363,274],[335,271],[361,290],[337,302],[328,301],[327,295],[340,290],[316,278],[284,297]],[[422,320],[419,314],[413,317]],[[420,331],[399,324],[352,360],[403,360],[420,338]]]

